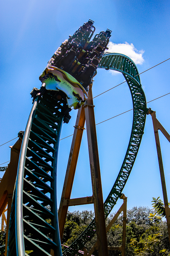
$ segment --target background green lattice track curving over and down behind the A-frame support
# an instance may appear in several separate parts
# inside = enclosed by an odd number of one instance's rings
[[[129,145],[117,179],[104,202],[104,212],[107,218],[121,196],[139,150],[146,120],[146,98],[141,87],[138,69],[127,56],[118,53],[105,54],[98,68],[121,72],[129,86],[133,101],[133,124]],[[96,232],[95,229],[95,219],[93,219],[83,233],[63,252],[63,256],[75,255],[79,249],[84,247],[87,241],[91,240]]]

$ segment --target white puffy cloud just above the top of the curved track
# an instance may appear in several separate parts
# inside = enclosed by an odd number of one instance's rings
[[[142,64],[144,62],[142,54],[145,52],[143,50],[137,50],[133,43],[108,43],[107,52],[116,52],[128,56],[135,64]]]

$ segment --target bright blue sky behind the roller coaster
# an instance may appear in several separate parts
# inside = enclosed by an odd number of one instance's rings
[[[40,88],[39,75],[50,57],[69,35],[94,20],[96,33],[111,29],[111,46],[118,50],[131,46],[129,54],[139,58],[139,73],[170,58],[169,1],[3,1],[1,3],[1,139],[0,145],[24,130],[32,108],[30,92]],[[127,42],[127,43],[125,43]],[[120,45],[121,44],[121,45]],[[131,51],[131,52],[130,52]],[[124,53],[124,52],[120,52]],[[126,55],[128,55],[128,53]],[[125,53],[124,53],[125,54]],[[139,56],[140,55],[140,56]],[[135,57],[135,56],[134,56]],[[142,60],[143,58],[143,60]],[[134,60],[135,62],[135,60]],[[170,60],[141,74],[147,101],[170,92]],[[99,70],[93,83],[93,96],[124,81],[121,74]],[[126,83],[94,99],[96,123],[132,108]],[[170,94],[147,104],[156,111],[160,123],[170,133]],[[61,138],[73,133],[77,110],[72,110],[69,124],[64,124]],[[103,196],[106,199],[128,146],[132,111],[96,126]],[[159,132],[167,191],[170,200],[170,144]],[[16,140],[15,140],[16,141]],[[0,164],[10,159],[15,141],[0,147]],[[57,169],[58,204],[70,151],[72,137],[60,141]],[[1,165],[6,166],[6,164]],[[0,173],[1,177],[3,173]],[[147,116],[142,143],[129,180],[123,191],[128,197],[128,209],[149,206],[152,197],[162,196],[159,166],[151,116]],[[91,177],[84,131],[72,198],[90,196]],[[113,211],[117,210],[121,200]],[[93,205],[70,207],[71,211],[92,209]]]

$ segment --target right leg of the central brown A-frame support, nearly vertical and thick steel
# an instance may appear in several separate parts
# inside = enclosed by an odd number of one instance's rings
[[[90,86],[88,92],[88,99],[86,101],[85,117],[87,127],[87,141],[90,159],[91,181],[94,200],[96,234],[97,234],[97,247],[99,256],[108,255],[108,244],[106,236],[104,206],[103,206],[103,193],[100,176],[100,163],[99,153],[97,146],[97,134],[95,124],[94,105],[92,97],[92,88]]]

